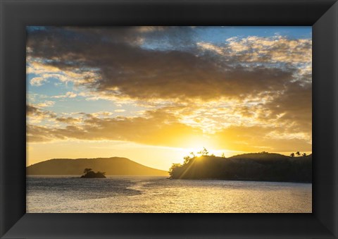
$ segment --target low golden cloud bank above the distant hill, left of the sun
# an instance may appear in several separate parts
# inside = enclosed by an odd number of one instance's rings
[[[166,121],[170,121],[167,123]],[[68,122],[70,123],[70,122]],[[125,140],[149,145],[184,143],[187,135],[198,135],[200,130],[173,121],[170,115],[149,112],[146,117],[96,118],[84,120],[82,125],[48,128],[27,125],[29,142],[47,142],[75,138],[81,140]]]

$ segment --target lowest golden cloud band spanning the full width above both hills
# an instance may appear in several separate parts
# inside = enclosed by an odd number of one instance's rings
[[[68,125],[65,128],[27,125],[28,142],[67,139],[121,140],[144,145],[192,147],[196,139],[206,137],[215,149],[253,152],[289,152],[296,149],[311,151],[311,142],[302,137],[292,137],[287,128],[274,125],[231,125],[215,133],[204,133],[200,128],[180,123],[180,117],[166,114],[162,110],[147,111],[144,116],[139,117],[97,118],[90,115],[82,121],[75,118],[56,118],[56,121]],[[273,133],[277,133],[277,136]],[[283,133],[284,137],[281,137]]]

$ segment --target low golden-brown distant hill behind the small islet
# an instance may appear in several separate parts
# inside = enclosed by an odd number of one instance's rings
[[[27,175],[82,175],[84,168],[104,171],[106,175],[168,176],[167,171],[150,168],[127,158],[49,159],[26,168]]]

